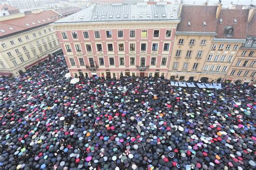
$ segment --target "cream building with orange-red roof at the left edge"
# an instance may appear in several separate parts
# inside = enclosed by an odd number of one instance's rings
[[[17,76],[27,68],[61,51],[53,21],[54,11],[34,11],[1,17],[0,75]],[[53,19],[54,18],[54,19]]]

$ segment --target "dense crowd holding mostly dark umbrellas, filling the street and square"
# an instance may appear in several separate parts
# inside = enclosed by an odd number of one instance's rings
[[[0,80],[0,169],[255,169],[255,89],[70,84],[62,56]]]

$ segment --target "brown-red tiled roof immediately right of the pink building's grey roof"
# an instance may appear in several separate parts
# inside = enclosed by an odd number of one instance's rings
[[[181,10],[181,18],[177,31],[216,32],[216,11],[217,6],[184,5]],[[190,22],[190,26],[188,26],[188,22]],[[204,22],[206,22],[205,27]]]

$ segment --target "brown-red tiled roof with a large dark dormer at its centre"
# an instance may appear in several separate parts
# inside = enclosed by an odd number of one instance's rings
[[[246,38],[248,10],[221,9],[218,21],[219,19],[222,19],[223,23],[221,24],[220,22],[218,22],[216,38],[227,38],[227,39],[245,39]],[[234,19],[237,19],[237,24],[234,23]],[[225,26],[233,26],[234,32],[232,37],[225,36],[225,33],[224,33]]]

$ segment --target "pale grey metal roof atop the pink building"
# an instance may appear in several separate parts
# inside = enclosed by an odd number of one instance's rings
[[[176,4],[92,5],[55,23],[177,20],[178,11],[179,5]]]

